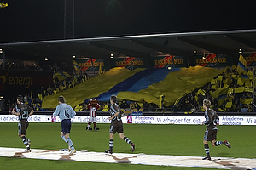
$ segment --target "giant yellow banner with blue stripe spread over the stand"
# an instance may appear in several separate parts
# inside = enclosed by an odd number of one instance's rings
[[[181,96],[211,82],[212,78],[223,71],[202,66],[171,70],[137,68],[133,71],[115,67],[90,78],[90,81],[61,92],[61,95],[72,107],[92,98],[109,101],[113,94],[117,95],[120,101],[137,101],[138,104],[147,102],[159,107],[169,106]],[[44,97],[42,108],[55,108],[58,105],[56,99],[59,95]]]

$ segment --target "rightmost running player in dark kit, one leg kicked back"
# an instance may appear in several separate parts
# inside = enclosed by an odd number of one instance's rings
[[[211,141],[212,146],[219,146],[224,144],[228,148],[231,148],[231,145],[227,140],[225,140],[224,142],[216,141],[217,131],[218,131],[218,128],[216,127],[216,125],[218,123],[219,118],[216,111],[210,109],[210,107],[211,107],[211,101],[208,99],[204,99],[203,108],[205,109],[206,121],[202,122],[202,124],[207,125],[207,130],[205,132],[204,141],[203,141],[207,156],[204,157],[203,160],[211,160],[208,141]]]

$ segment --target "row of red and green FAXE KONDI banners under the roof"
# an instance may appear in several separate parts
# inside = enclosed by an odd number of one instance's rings
[[[247,66],[256,65],[256,53],[242,55],[247,60]],[[237,54],[237,59],[238,58],[239,54]],[[234,63],[234,61],[237,59],[232,59],[232,56],[226,54],[196,54],[189,56],[189,59],[188,57],[183,56],[165,55],[154,56],[148,59],[149,65],[154,68],[182,68],[196,65],[218,68],[237,65],[237,63]],[[100,69],[103,71],[106,69],[106,63],[103,59],[77,59],[76,62],[79,64],[81,71],[93,71],[92,65],[94,65],[95,71],[99,71]],[[111,67],[125,67],[129,70],[137,68],[148,68],[146,63],[148,62],[145,59],[135,57],[113,58],[110,60]]]

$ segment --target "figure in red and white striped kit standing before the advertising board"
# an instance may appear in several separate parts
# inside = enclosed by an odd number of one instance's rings
[[[90,102],[87,105],[87,108],[90,109],[90,118],[89,118],[89,122],[86,127],[86,130],[92,130],[92,128],[90,128],[91,122],[93,122],[94,130],[100,130],[99,128],[97,128],[97,120],[96,120],[97,109],[100,108],[98,101],[96,99],[90,99]]]

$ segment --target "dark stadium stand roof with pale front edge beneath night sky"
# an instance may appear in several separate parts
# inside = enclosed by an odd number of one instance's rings
[[[70,61],[77,58],[110,59],[157,55],[228,54],[238,58],[243,53],[256,52],[256,29],[232,31],[198,31],[119,37],[93,37],[38,42],[0,43],[11,59],[54,59]],[[237,59],[236,59],[237,60]]]

